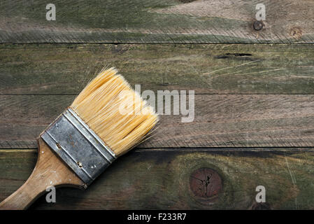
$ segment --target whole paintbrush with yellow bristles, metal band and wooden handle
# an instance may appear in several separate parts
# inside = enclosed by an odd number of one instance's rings
[[[51,186],[87,188],[157,121],[154,109],[116,69],[101,71],[40,134],[34,171],[0,209],[27,209]]]

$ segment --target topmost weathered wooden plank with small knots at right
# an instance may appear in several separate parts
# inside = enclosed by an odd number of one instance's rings
[[[314,2],[264,0],[266,20],[253,29],[259,0],[55,0],[0,3],[1,43],[313,43]]]

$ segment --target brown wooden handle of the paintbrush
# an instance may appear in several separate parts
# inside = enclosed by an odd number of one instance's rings
[[[85,188],[85,183],[39,138],[38,159],[34,171],[15,193],[0,203],[0,209],[27,209],[49,186]]]

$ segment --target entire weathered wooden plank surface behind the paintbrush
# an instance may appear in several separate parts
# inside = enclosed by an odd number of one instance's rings
[[[31,209],[314,209],[314,48],[301,44],[314,43],[314,1],[56,0],[56,21],[47,3],[0,1],[0,201],[34,169],[38,134],[116,66],[142,91],[195,90],[194,121],[162,116],[90,188]],[[215,197],[191,190],[202,168],[222,179]]]

